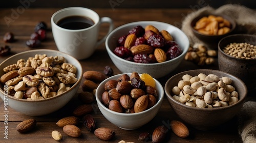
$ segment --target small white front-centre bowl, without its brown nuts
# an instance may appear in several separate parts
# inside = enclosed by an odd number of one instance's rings
[[[128,74],[129,76],[131,75],[131,73],[126,73],[126,74]],[[147,109],[145,111],[138,112],[138,113],[119,113],[106,108],[101,103],[101,96],[102,96],[102,93],[105,91],[104,90],[105,83],[111,79],[116,80],[120,75],[122,74],[109,77],[99,84],[96,90],[96,101],[102,115],[107,120],[109,120],[112,124],[124,130],[135,130],[145,125],[146,123],[150,122],[157,115],[164,97],[163,87],[161,83],[155,79],[158,99],[157,99],[156,105],[154,105],[150,109]]]

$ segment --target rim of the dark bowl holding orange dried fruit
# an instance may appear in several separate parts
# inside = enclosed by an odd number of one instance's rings
[[[221,17],[223,17],[224,19],[227,19],[227,20],[231,23],[231,25],[232,25],[230,31],[229,31],[228,33],[226,33],[226,34],[223,34],[223,35],[206,35],[206,34],[202,34],[202,33],[198,32],[197,30],[195,30],[193,23],[196,23],[200,18],[202,18],[202,17],[204,17],[204,16],[209,16],[209,15],[221,16]],[[231,21],[230,21],[230,20],[231,20]],[[193,19],[191,20],[189,26],[190,26],[191,30],[192,30],[193,32],[195,32],[196,34],[198,34],[198,35],[205,36],[205,37],[209,37],[209,38],[210,38],[210,37],[212,37],[212,38],[217,38],[217,37],[220,37],[220,36],[221,36],[221,37],[222,37],[222,36],[227,36],[227,35],[229,35],[230,33],[232,33],[232,32],[235,30],[235,28],[237,27],[237,22],[236,22],[233,18],[231,18],[230,16],[225,15],[225,14],[209,14],[209,13],[208,13],[208,14],[200,14],[200,15],[196,16],[195,18],[193,18]]]

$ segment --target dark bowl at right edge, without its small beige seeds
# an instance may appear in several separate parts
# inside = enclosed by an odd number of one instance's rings
[[[256,90],[256,59],[240,59],[228,55],[223,48],[230,43],[245,43],[256,45],[255,35],[237,34],[223,38],[218,45],[218,63],[221,71],[230,73],[242,79],[249,92]],[[256,49],[254,47],[254,49]]]

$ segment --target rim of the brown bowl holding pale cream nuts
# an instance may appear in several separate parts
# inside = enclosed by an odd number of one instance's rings
[[[184,75],[184,73],[187,74],[187,72],[190,72],[190,71],[211,71],[212,74],[214,74],[214,72],[220,72],[220,73],[227,74],[227,75],[229,75],[229,76],[232,77],[232,78],[236,78],[236,79],[245,87],[245,96],[244,96],[244,98],[239,99],[239,101],[238,101],[236,104],[228,105],[228,106],[225,106],[225,107],[218,107],[218,108],[197,108],[197,107],[190,107],[190,106],[185,105],[185,104],[183,104],[183,103],[181,103],[181,102],[178,102],[178,101],[175,100],[175,99],[173,98],[173,96],[168,92],[168,91],[170,91],[170,90],[169,90],[169,87],[167,86],[167,84],[169,84],[170,81],[171,81],[173,78],[175,78],[175,77],[177,77],[177,76]],[[203,73],[203,72],[201,72],[201,73]],[[246,99],[246,97],[247,97],[247,93],[248,93],[245,83],[244,83],[240,78],[238,78],[238,77],[236,77],[236,76],[234,76],[234,75],[231,75],[231,74],[229,74],[229,73],[223,72],[223,71],[211,70],[211,69],[188,70],[188,71],[183,71],[183,72],[180,72],[180,73],[178,73],[178,74],[175,74],[174,76],[170,77],[170,78],[166,81],[165,86],[164,86],[164,90],[165,90],[165,94],[166,94],[167,98],[169,98],[170,100],[172,100],[175,104],[178,104],[179,106],[182,106],[182,107],[184,107],[184,108],[188,108],[188,109],[190,109],[190,110],[198,110],[198,111],[199,111],[199,110],[200,110],[200,111],[218,111],[218,110],[225,110],[225,109],[232,108],[232,107],[234,107],[234,106],[237,106],[237,105],[240,104],[241,102],[244,102],[245,99]]]

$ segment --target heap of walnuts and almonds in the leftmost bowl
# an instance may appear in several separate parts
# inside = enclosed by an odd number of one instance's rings
[[[76,83],[76,67],[62,56],[36,54],[4,69],[0,81],[8,94],[28,100],[45,99],[68,91]]]

